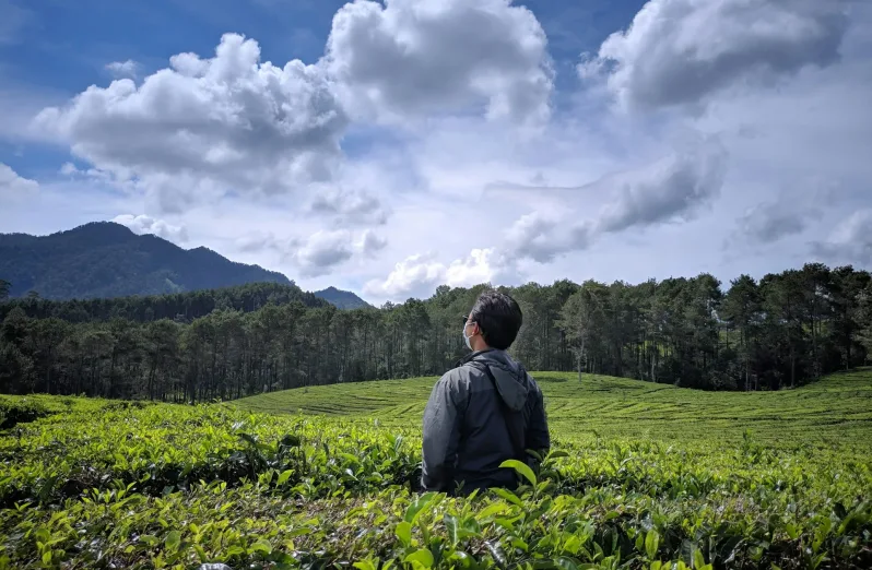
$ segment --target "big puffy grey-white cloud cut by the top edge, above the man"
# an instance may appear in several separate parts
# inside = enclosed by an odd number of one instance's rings
[[[540,123],[553,71],[542,26],[510,0],[358,0],[337,12],[327,69],[356,115],[467,111]]]

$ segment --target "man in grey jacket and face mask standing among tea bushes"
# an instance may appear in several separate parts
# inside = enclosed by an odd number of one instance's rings
[[[517,486],[517,459],[538,468],[526,452],[551,447],[542,392],[506,351],[521,328],[518,304],[508,295],[483,293],[463,318],[472,353],[443,376],[424,411],[422,485],[463,495],[473,489]]]

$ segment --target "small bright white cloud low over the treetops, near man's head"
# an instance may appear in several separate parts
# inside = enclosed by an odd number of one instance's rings
[[[364,286],[367,295],[402,300],[429,297],[439,285],[471,287],[483,283],[511,281],[516,268],[495,249],[473,249],[469,256],[449,264],[437,260],[435,252],[416,253],[400,261],[384,280]]]

